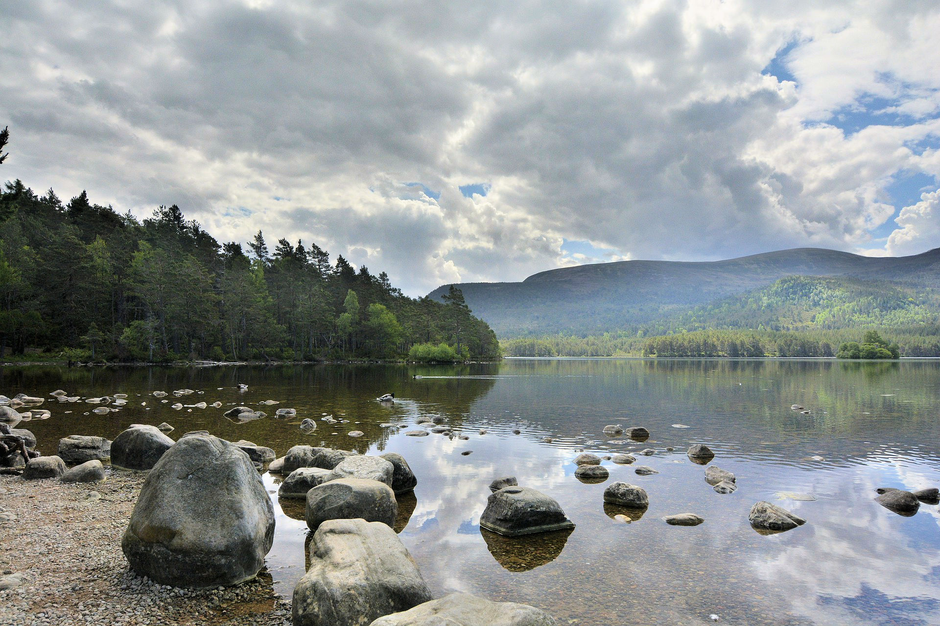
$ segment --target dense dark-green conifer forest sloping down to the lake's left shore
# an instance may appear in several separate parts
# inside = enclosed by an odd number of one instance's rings
[[[385,359],[441,343],[458,358],[499,354],[459,289],[407,298],[312,242],[272,250],[258,232],[244,251],[175,205],[138,221],[19,180],[0,193],[0,297],[0,358]]]

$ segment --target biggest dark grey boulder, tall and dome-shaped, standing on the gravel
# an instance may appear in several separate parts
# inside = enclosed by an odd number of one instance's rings
[[[254,578],[273,542],[274,507],[248,455],[187,434],[144,481],[121,548],[162,585],[209,588]]]

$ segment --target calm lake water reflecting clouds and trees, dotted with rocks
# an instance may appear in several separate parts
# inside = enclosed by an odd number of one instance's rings
[[[234,389],[240,382],[249,389]],[[872,500],[878,486],[940,485],[940,362],[512,359],[436,368],[0,372],[0,392],[9,396],[25,391],[48,398],[58,388],[83,396],[125,392],[131,402],[99,417],[83,414],[92,405],[47,400],[43,408],[53,417],[21,427],[48,453],[65,435],[114,438],[131,423],[162,421],[176,427],[174,437],[205,429],[270,446],[278,456],[296,444],[401,453],[418,485],[415,497],[401,502],[407,525],[400,537],[437,594],[464,590],[532,603],[559,623],[581,626],[711,624],[711,614],[729,624],[940,624],[937,507],[921,505],[913,517],[901,517]],[[224,406],[178,411],[170,408],[177,402],[172,396],[166,404],[145,397],[182,388],[204,392],[183,404],[218,400]],[[387,391],[399,402],[372,400]],[[294,407],[296,420],[234,423],[222,417],[235,403],[269,399],[280,404],[263,410]],[[811,415],[792,411],[793,404]],[[349,423],[330,426],[320,420],[323,414]],[[442,416],[470,439],[410,437],[379,425],[415,428],[421,416]],[[319,424],[311,435],[298,428],[307,417]],[[646,426],[650,440],[611,440],[602,433],[611,423]],[[676,423],[689,428],[672,427]],[[478,435],[480,428],[488,434]],[[522,435],[512,434],[516,428]],[[352,430],[366,435],[346,435]],[[543,443],[545,436],[555,440]],[[685,447],[698,442],[715,451],[713,465],[737,475],[736,493],[714,493],[704,468],[687,459]],[[605,483],[573,476],[572,459],[580,451],[644,448],[656,453],[636,465],[660,474],[637,476],[631,466],[604,462],[611,474]],[[462,456],[464,450],[473,453]],[[481,532],[487,485],[507,474],[555,497],[574,530],[522,540]],[[278,481],[269,474],[264,479],[274,492]],[[632,524],[614,521],[621,511],[603,504],[611,481],[639,484],[650,495],[649,510]],[[817,499],[777,500],[779,492]],[[290,595],[304,573],[303,509],[290,503],[282,509],[272,497],[277,537],[268,567],[275,588]],[[807,525],[759,535],[747,524],[758,500],[794,511]],[[661,520],[685,511],[706,522],[670,527]]]

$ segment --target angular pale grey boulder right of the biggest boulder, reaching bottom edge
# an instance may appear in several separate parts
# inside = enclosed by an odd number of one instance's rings
[[[431,600],[394,530],[362,519],[330,520],[310,542],[310,567],[293,592],[293,625],[364,626]]]

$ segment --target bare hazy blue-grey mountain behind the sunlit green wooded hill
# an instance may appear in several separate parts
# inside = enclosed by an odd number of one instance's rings
[[[710,262],[621,261],[562,267],[523,282],[458,284],[473,312],[501,337],[596,335],[642,328],[790,276],[841,277],[899,287],[940,287],[940,248],[914,256],[869,257],[797,248]],[[440,299],[449,285],[431,292]],[[877,291],[883,286],[872,286]]]

